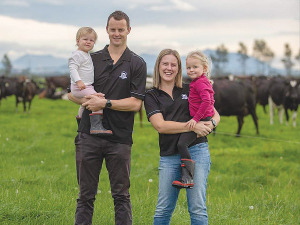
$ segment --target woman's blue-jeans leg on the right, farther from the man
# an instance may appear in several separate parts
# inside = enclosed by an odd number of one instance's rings
[[[187,190],[188,210],[192,225],[207,225],[206,210],[207,177],[210,171],[210,154],[207,142],[189,148],[192,159],[195,160],[195,186]]]

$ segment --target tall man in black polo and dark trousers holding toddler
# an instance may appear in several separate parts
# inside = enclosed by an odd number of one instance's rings
[[[91,54],[94,88],[104,95],[77,99],[69,94],[73,102],[86,107],[75,138],[79,184],[75,224],[92,224],[103,159],[114,199],[115,224],[132,224],[129,195],[132,131],[134,111],[141,108],[144,99],[147,71],[144,60],[127,48],[130,30],[128,16],[115,11],[107,20],[109,45]],[[89,113],[100,109],[104,110],[103,126],[112,130],[112,136],[90,135]]]

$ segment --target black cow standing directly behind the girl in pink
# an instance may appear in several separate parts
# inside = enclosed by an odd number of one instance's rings
[[[221,116],[237,116],[237,137],[240,136],[244,116],[248,114],[252,116],[256,133],[259,134],[255,93],[248,82],[215,80],[213,89],[215,91],[215,108],[219,114]]]

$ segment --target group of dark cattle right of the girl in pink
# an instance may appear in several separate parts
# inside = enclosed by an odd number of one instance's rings
[[[214,80],[215,108],[221,116],[236,115],[237,136],[240,135],[244,117],[251,115],[259,134],[256,105],[269,105],[270,123],[273,124],[274,109],[278,108],[280,123],[285,111],[287,124],[288,110],[293,111],[293,126],[296,126],[298,105],[300,104],[300,79],[285,77],[233,77]]]

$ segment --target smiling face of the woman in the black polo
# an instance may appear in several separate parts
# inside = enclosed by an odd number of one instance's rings
[[[178,60],[174,55],[165,55],[159,64],[161,82],[174,82],[178,74]]]

